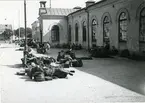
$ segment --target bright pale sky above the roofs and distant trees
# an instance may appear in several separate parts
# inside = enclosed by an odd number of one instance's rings
[[[27,26],[37,20],[39,2],[47,1],[49,7],[50,0],[26,0],[27,1]],[[73,8],[75,6],[85,6],[88,0],[51,0],[52,8]],[[95,0],[98,1],[98,0]],[[20,24],[19,24],[20,21]],[[23,0],[0,0],[0,24],[12,24],[14,28],[19,25],[24,27],[24,2]]]

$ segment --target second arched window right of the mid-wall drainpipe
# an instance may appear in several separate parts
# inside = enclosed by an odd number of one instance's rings
[[[108,16],[105,16],[103,20],[103,41],[104,42],[109,42],[109,35],[110,35],[109,25],[110,25],[110,19]]]

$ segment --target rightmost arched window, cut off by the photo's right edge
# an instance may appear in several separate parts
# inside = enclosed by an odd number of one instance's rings
[[[140,33],[139,33],[139,41],[145,42],[145,8],[143,8],[140,12]]]

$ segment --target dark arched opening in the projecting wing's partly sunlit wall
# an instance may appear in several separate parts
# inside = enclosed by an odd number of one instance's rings
[[[52,27],[51,40],[52,40],[52,42],[58,42],[59,41],[59,27],[57,25],[54,25]]]

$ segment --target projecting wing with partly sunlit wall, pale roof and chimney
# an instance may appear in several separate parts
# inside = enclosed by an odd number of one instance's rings
[[[67,42],[67,15],[74,9],[45,8],[45,2],[40,2],[39,23],[42,42],[51,44]]]

